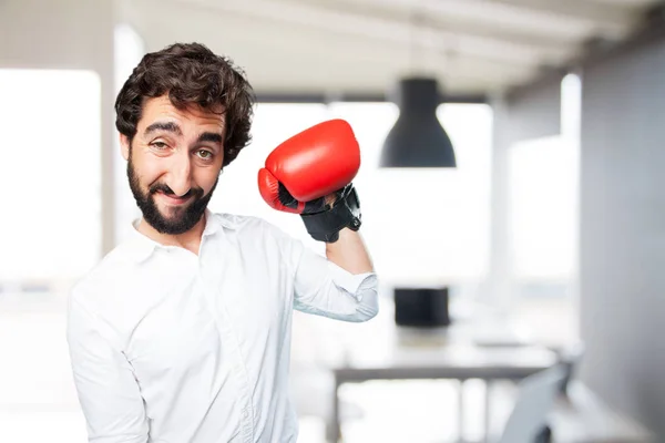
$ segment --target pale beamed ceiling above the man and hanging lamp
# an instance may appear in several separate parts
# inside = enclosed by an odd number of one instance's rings
[[[200,41],[257,93],[385,94],[436,75],[447,94],[508,91],[621,41],[654,0],[125,0],[146,51]]]

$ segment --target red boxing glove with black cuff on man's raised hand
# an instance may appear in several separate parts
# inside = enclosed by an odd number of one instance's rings
[[[277,146],[258,172],[258,189],[268,205],[300,214],[309,234],[336,241],[345,227],[360,227],[360,207],[351,181],[360,167],[360,147],[351,126],[330,120]]]

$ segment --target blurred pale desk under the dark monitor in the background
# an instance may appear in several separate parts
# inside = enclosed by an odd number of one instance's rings
[[[390,311],[385,315],[389,316]],[[460,321],[439,330],[397,328],[393,323],[389,326],[382,321],[379,319],[376,324],[377,333],[380,331],[380,334],[374,334],[370,340],[374,346],[362,346],[361,340],[354,342],[347,350],[345,361],[331,368],[335,388],[329,437],[332,442],[337,442],[340,436],[338,391],[345,383],[415,379],[482,379],[488,382],[495,379],[520,380],[548,369],[557,361],[554,352],[522,342],[513,343],[514,346],[479,346],[473,339],[479,337],[474,332],[482,330],[482,334],[487,336],[489,329],[488,323],[479,326],[475,320]],[[497,336],[508,334],[498,331]],[[459,402],[459,426],[462,431],[461,390]],[[489,401],[485,401],[485,436],[490,408]]]

